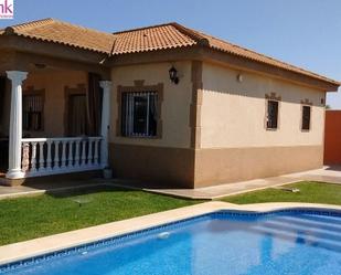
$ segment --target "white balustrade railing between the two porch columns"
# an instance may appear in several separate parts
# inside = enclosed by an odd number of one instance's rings
[[[102,137],[23,138],[24,177],[99,170]]]

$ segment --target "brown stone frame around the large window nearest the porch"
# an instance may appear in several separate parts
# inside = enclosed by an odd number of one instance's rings
[[[121,138],[135,138],[135,139],[161,139],[162,138],[162,103],[163,103],[163,83],[158,83],[156,85],[145,85],[143,80],[134,81],[134,86],[117,86],[117,116],[116,116],[116,127],[115,133],[117,137]],[[122,133],[122,95],[125,93],[145,93],[152,92],[157,94],[156,113],[157,113],[157,126],[154,136],[141,136],[141,135],[124,135]]]

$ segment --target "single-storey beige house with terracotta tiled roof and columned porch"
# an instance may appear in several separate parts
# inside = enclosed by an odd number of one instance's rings
[[[98,171],[196,188],[319,168],[340,83],[178,23],[0,31],[3,177]],[[8,163],[8,165],[7,165]]]

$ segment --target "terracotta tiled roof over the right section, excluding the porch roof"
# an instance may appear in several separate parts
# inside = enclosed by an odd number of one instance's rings
[[[295,73],[303,74],[321,81],[340,85],[339,82],[318,75],[310,71],[275,60],[264,54],[256,53],[245,47],[232,44],[227,41],[209,34],[185,28],[178,23],[147,27],[136,30],[114,33],[116,36],[113,54],[137,53],[170,47],[184,47],[201,44],[221,52],[226,52],[244,59],[280,67]]]

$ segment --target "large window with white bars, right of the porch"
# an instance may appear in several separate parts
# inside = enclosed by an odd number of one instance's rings
[[[122,136],[157,136],[157,101],[156,92],[122,93]]]

